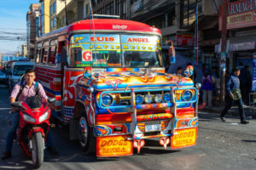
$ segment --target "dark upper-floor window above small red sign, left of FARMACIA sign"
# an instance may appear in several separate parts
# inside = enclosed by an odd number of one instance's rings
[[[195,22],[196,7],[198,14],[201,14],[202,0],[183,0],[181,3],[181,26],[191,26]]]

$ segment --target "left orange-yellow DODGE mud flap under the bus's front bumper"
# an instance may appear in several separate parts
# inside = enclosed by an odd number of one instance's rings
[[[96,156],[131,156],[132,142],[126,140],[127,136],[111,136],[96,138]]]

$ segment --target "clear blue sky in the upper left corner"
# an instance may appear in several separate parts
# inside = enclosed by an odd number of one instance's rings
[[[20,33],[26,36],[26,12],[31,3],[39,3],[39,0],[0,0],[0,53],[15,54],[20,50],[24,41],[6,41],[4,37],[16,37],[6,34]]]

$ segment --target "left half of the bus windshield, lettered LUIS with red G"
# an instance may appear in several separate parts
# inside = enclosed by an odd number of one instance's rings
[[[70,39],[69,52],[71,66],[121,66],[119,35],[76,34]]]

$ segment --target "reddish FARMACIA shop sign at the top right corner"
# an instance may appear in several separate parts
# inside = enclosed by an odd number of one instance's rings
[[[256,0],[240,0],[228,3],[227,29],[256,26]],[[222,23],[222,10],[219,13],[219,23]],[[222,24],[219,24],[221,30]]]

